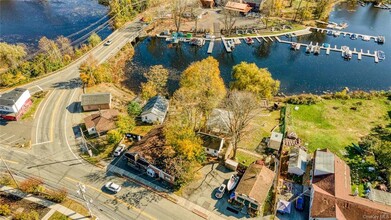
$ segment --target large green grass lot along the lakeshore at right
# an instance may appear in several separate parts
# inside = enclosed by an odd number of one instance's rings
[[[344,154],[346,146],[357,143],[373,127],[391,122],[391,102],[387,98],[323,100],[315,105],[297,105],[298,111],[295,106],[288,107],[287,129],[308,143],[310,152],[329,148]]]

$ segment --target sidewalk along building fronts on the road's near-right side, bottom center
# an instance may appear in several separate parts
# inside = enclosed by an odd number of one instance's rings
[[[224,220],[225,218],[223,217],[220,217],[219,215],[217,215],[216,213],[214,212],[211,212],[185,198],[182,198],[180,196],[177,196],[175,194],[168,194],[167,193],[167,190],[166,189],[163,189],[162,187],[152,183],[152,182],[149,182],[131,172],[128,172],[126,170],[123,170],[121,168],[118,168],[116,166],[113,166],[113,165],[108,165],[108,171],[109,172],[113,172],[113,173],[117,173],[121,176],[124,176],[124,177],[127,177],[129,179],[131,179],[132,181],[136,182],[137,184],[140,184],[142,185],[143,187],[151,190],[151,191],[154,191],[155,193],[157,193],[158,195],[160,195],[161,197],[167,199],[168,201],[172,202],[172,203],[175,203],[179,206],[182,206],[183,208],[193,212],[194,214],[200,216],[201,218],[204,218],[204,219],[213,219],[213,220]]]

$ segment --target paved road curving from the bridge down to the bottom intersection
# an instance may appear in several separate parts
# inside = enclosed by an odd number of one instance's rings
[[[100,45],[91,54],[99,63],[117,53],[143,24],[134,22],[114,32],[110,46]],[[31,140],[32,149],[15,149],[0,143],[0,154],[18,177],[37,176],[54,187],[65,187],[76,196],[76,184],[87,186],[87,195],[94,201],[94,211],[100,219],[200,219],[156,194],[126,180],[107,176],[77,156],[77,146],[72,126],[80,122],[77,104],[82,94],[79,65],[83,57],[66,69],[43,79],[22,86],[31,93],[48,90],[49,94],[39,105],[34,117]],[[5,125],[7,126],[7,125]],[[14,130],[18,133],[17,130]],[[1,132],[0,132],[0,135]],[[3,164],[0,169],[4,171]],[[1,170],[0,170],[1,171]],[[109,180],[122,184],[119,195],[110,195],[102,190]]]

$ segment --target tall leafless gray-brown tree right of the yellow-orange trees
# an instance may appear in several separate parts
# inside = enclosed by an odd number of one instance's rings
[[[229,128],[234,156],[241,139],[247,134],[247,127],[251,119],[255,117],[258,102],[253,93],[244,91],[231,91],[225,101],[225,109],[228,111],[227,127]]]

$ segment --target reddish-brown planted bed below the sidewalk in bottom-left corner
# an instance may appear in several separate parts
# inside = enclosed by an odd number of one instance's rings
[[[25,213],[36,211],[38,212],[40,219],[42,219],[50,210],[46,206],[33,203],[4,192],[0,192],[0,204],[9,205],[12,210],[12,214],[16,213],[17,210]]]

